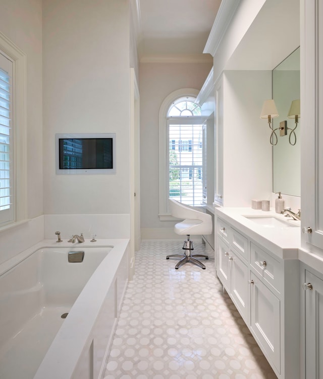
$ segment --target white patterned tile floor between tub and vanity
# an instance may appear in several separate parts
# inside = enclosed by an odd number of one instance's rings
[[[214,271],[175,270],[182,241],[145,240],[136,253],[104,379],[276,379]],[[194,253],[204,245],[194,240]]]

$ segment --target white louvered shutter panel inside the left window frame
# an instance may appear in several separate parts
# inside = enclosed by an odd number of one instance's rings
[[[13,63],[0,53],[0,225],[14,219]]]

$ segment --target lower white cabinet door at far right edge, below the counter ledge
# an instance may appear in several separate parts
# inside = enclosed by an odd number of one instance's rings
[[[306,270],[305,281],[306,379],[323,379],[323,280]]]

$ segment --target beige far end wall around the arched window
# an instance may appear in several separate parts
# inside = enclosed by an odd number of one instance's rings
[[[158,113],[163,100],[181,88],[200,90],[211,64],[208,63],[141,63],[140,64],[140,175],[141,230],[146,238],[151,229],[165,237],[163,230],[173,230],[174,222],[158,218]],[[166,124],[165,124],[166,127]],[[166,230],[164,230],[166,232]],[[168,231],[167,231],[168,232]],[[174,234],[174,237],[176,234]]]

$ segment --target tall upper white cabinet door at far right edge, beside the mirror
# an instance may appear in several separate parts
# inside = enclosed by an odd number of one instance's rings
[[[323,4],[302,0],[301,7],[301,223],[312,231],[302,235],[302,247],[323,255]]]

